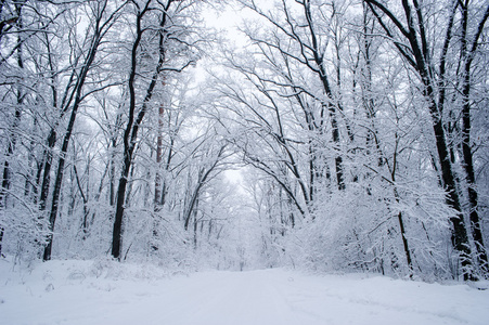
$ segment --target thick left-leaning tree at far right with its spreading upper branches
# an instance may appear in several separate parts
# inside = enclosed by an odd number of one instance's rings
[[[447,103],[447,94],[443,90],[445,81],[448,77],[447,53],[452,42],[455,8],[460,5],[460,1],[449,2],[448,16],[445,24],[445,40],[441,52],[438,54],[438,62],[435,61],[436,57],[434,56],[436,44],[433,41],[430,42],[434,38],[428,35],[429,26],[426,17],[428,6],[426,3],[421,3],[417,0],[403,0],[399,12],[396,13],[382,2],[375,0],[365,0],[365,2],[377,17],[384,34],[393,40],[399,54],[417,74],[422,82],[422,94],[425,98],[432,117],[438,161],[441,166],[441,179],[448,195],[447,203],[456,211],[455,216],[451,218],[453,248],[460,253],[464,278],[473,278],[474,270],[471,260],[467,227],[464,223],[461,195],[449,157],[449,145],[443,126],[443,108]],[[484,26],[486,20],[487,15],[484,16],[479,26]],[[475,38],[476,44],[477,40],[478,37]],[[484,258],[484,256],[479,256]]]

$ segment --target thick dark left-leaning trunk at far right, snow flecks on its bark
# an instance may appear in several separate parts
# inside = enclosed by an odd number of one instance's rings
[[[455,185],[455,178],[453,174],[449,150],[447,145],[447,139],[445,134],[445,129],[442,125],[442,106],[445,102],[443,99],[439,99],[438,103],[436,101],[436,92],[434,88],[438,86],[435,81],[435,73],[433,72],[433,64],[430,62],[430,52],[427,43],[427,36],[425,31],[425,22],[422,13],[422,8],[417,1],[414,3],[414,14],[413,9],[408,0],[402,0],[402,9],[404,12],[404,18],[408,26],[404,27],[403,23],[396,17],[385,5],[376,0],[364,0],[374,15],[376,16],[378,23],[384,28],[386,35],[393,38],[393,32],[384,23],[384,20],[375,11],[375,8],[384,12],[388,18],[396,25],[398,31],[404,38],[401,42],[394,42],[399,53],[407,60],[407,62],[416,70],[419,74],[423,89],[423,95],[428,103],[428,112],[432,117],[432,126],[435,134],[435,143],[438,153],[438,159],[441,167],[441,179],[443,182],[443,187],[447,191],[447,205],[455,210],[455,216],[450,218],[452,223],[452,245],[453,248],[460,253],[460,262],[463,268],[464,280],[472,280],[473,277],[473,265],[471,260],[471,247],[467,237],[467,231],[464,224],[464,218],[462,213],[462,208],[460,204],[460,196]],[[454,11],[452,11],[454,14]],[[417,22],[417,25],[416,25]],[[447,36],[443,44],[443,52],[440,63],[440,73],[445,73],[445,50],[448,48],[451,38],[451,25],[453,20],[449,22]],[[417,26],[417,28],[416,28]],[[401,46],[401,43],[409,43],[409,49]],[[439,76],[441,80],[445,80],[445,75]]]

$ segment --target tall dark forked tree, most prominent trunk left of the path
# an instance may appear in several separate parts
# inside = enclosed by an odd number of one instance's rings
[[[179,39],[181,37],[178,29],[185,28],[180,27],[176,24],[178,14],[191,6],[194,1],[176,1],[167,0],[166,2],[155,2],[152,0],[146,0],[142,3],[139,1],[132,1],[131,4],[134,9],[134,39],[132,42],[131,54],[130,54],[130,70],[129,79],[127,82],[129,89],[129,105],[128,105],[128,120],[123,135],[124,142],[124,157],[123,157],[123,168],[120,178],[117,186],[117,199],[116,199],[116,211],[114,219],[113,238],[112,238],[112,256],[120,260],[121,255],[121,243],[123,243],[123,219],[125,211],[126,202],[126,191],[129,179],[129,171],[132,166],[132,159],[134,154],[134,148],[137,146],[138,132],[143,122],[144,116],[147,110],[152,107],[152,98],[155,93],[158,78],[163,72],[181,72],[188,67],[193,61],[188,58],[188,61],[181,67],[170,67],[166,66],[168,57],[166,54],[166,47],[169,46],[170,41],[181,42],[185,44],[184,39]],[[155,22],[156,21],[156,24]],[[177,30],[176,30],[177,29]],[[151,35],[153,32],[153,35]],[[150,36],[146,36],[149,34]],[[151,40],[155,38],[157,60],[152,64],[151,77],[149,83],[146,83],[143,90],[142,101],[138,103],[139,95],[137,90],[141,88],[137,86],[139,76],[141,76],[141,68],[144,67],[145,62],[144,54],[146,47],[151,47]],[[154,46],[154,44],[153,44]],[[143,55],[141,55],[143,54]],[[143,83],[144,84],[144,83]]]

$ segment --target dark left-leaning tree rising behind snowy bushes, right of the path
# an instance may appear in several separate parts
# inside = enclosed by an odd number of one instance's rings
[[[280,12],[278,14],[267,13],[255,1],[240,2],[274,27],[272,36],[260,35],[259,31],[246,31],[248,38],[259,44],[266,60],[271,61],[273,65],[278,64],[276,60],[280,60],[282,56],[284,63],[280,63],[281,65],[278,65],[278,68],[299,65],[304,69],[309,70],[316,78],[314,84],[320,86],[318,88],[298,83],[295,79],[300,80],[300,77],[294,76],[291,72],[281,72],[280,74],[285,78],[281,83],[282,87],[292,88],[292,91],[295,93],[308,94],[321,104],[320,112],[316,116],[307,109],[308,107],[305,107],[310,127],[314,127],[316,132],[320,135],[325,134],[327,115],[331,125],[331,139],[336,152],[334,158],[336,186],[338,190],[345,190],[345,167],[340,150],[340,118],[342,116],[345,117],[343,113],[344,103],[342,103],[339,88],[334,87],[332,73],[329,69],[329,60],[331,60],[329,57],[329,51],[331,51],[329,42],[320,35],[331,31],[331,37],[337,40],[337,54],[339,54],[342,41],[339,40],[340,36],[337,34],[339,32],[338,29],[324,30],[324,24],[327,25],[330,22],[318,22],[319,20],[334,20],[340,13],[337,12],[334,3],[331,8],[324,9],[323,5],[314,5],[308,0],[296,1],[296,3],[282,0],[280,1]],[[337,61],[334,74],[336,75],[336,84],[340,86],[342,68],[339,64],[339,61]],[[266,81],[280,83],[280,81],[271,78],[266,78]],[[297,98],[297,100],[299,99]],[[304,105],[306,103],[299,104]],[[349,129],[348,122],[346,120],[344,122],[346,123],[346,129]],[[352,133],[349,132],[348,136],[352,136]],[[317,154],[318,152],[312,150],[312,153]],[[318,160],[313,158],[311,162]]]

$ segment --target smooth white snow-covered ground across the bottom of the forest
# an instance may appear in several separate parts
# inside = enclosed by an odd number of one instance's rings
[[[0,324],[489,324],[489,290],[285,270],[168,275],[152,265],[0,260]]]

